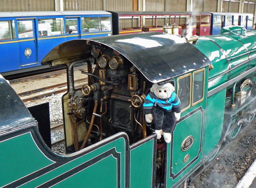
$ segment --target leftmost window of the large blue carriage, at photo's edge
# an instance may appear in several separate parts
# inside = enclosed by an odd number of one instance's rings
[[[15,39],[15,22],[14,20],[0,21],[0,40]]]

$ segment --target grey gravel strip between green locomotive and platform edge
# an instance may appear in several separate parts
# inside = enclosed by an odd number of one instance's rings
[[[256,121],[240,130],[239,136],[224,145],[212,163],[192,183],[196,188],[234,188],[256,159]]]

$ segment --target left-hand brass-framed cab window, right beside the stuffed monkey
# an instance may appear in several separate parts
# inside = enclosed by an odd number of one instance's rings
[[[192,75],[191,73],[180,76],[177,79],[177,95],[180,98],[180,110],[184,112],[185,110],[189,109],[190,102],[191,102],[191,84],[192,84]]]

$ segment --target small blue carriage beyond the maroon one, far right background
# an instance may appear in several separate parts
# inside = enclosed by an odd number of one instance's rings
[[[253,28],[253,14],[234,12],[210,12],[211,13],[211,35],[220,35],[224,26],[242,26],[247,30]]]

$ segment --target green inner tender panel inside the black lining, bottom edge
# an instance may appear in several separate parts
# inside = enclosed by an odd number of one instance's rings
[[[52,188],[117,188],[117,159],[112,155],[64,179]]]

